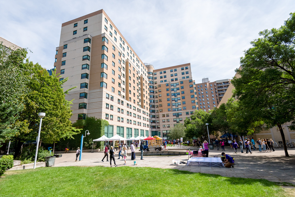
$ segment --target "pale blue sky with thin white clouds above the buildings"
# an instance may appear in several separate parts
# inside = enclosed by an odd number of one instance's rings
[[[280,27],[294,0],[1,1],[0,37],[53,68],[61,24],[104,9],[140,59],[155,69],[191,63],[196,83],[231,79],[259,31]]]

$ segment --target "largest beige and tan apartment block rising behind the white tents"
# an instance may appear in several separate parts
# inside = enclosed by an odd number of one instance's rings
[[[148,69],[104,10],[65,22],[55,69],[73,100],[71,121],[106,119],[105,135],[150,135]]]

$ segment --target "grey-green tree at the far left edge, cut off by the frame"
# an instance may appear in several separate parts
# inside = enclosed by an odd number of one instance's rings
[[[26,49],[6,48],[0,43],[0,147],[18,128],[14,123],[23,110],[22,98],[27,92],[26,55]]]

